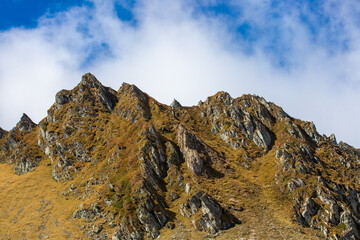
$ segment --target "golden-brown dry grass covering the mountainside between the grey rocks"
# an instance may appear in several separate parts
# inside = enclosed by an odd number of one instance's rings
[[[77,88],[74,91],[77,91]],[[217,96],[220,96],[220,93],[214,97]],[[251,101],[252,98],[246,95],[244,101]],[[133,100],[130,97],[124,96],[115,110],[129,110],[139,114],[136,104],[131,101]],[[238,101],[242,100],[238,99]],[[214,100],[211,102],[217,104]],[[179,205],[189,195],[185,194],[185,190],[179,186],[170,187],[165,179],[168,192],[162,194],[168,199],[167,210],[175,213],[176,228],[174,230],[167,227],[161,229],[160,239],[320,238],[317,237],[320,234],[319,231],[310,228],[300,229],[299,224],[293,219],[291,196],[282,192],[274,180],[274,176],[281,171],[275,159],[275,150],[284,143],[293,141],[289,138],[284,123],[275,123],[271,126],[278,137],[271,151],[261,150],[250,140],[247,140],[247,147],[236,150],[211,132],[211,123],[206,123],[205,121],[209,119],[201,117],[199,107],[171,109],[150,98],[149,111],[152,119],[145,120],[139,114],[137,116],[139,120],[131,123],[117,113],[110,114],[104,111],[98,102],[95,104],[99,110],[98,117],[74,117],[71,109],[75,103],[71,104],[66,104],[57,110],[55,117],[60,120],[47,124],[47,131],[63,134],[63,126],[67,123],[76,125],[78,131],[61,141],[66,143],[80,141],[86,149],[96,145],[96,149],[91,152],[91,162],[76,163],[76,167],[81,170],[73,174],[72,181],[65,183],[57,183],[52,179],[52,167],[45,164],[50,160],[43,160],[35,171],[21,176],[13,173],[13,166],[0,164],[1,239],[42,239],[45,236],[50,239],[86,239],[80,231],[80,225],[84,223],[81,220],[72,219],[73,212],[82,203],[86,205],[95,201],[101,203],[104,211],[118,214],[115,221],[123,215],[135,214],[136,204],[132,203],[134,199],[132,195],[143,181],[140,177],[138,154],[147,141],[142,133],[153,124],[164,139],[176,143],[176,127],[180,122],[201,138],[209,149],[212,149],[213,155],[220,159],[215,161],[212,167],[224,173],[221,178],[194,177],[187,170],[186,163],[183,163],[179,167],[179,172],[184,177],[183,182],[190,183],[192,186],[190,195],[200,190],[209,193],[223,207],[237,208],[238,210],[231,210],[231,212],[243,223],[232,229],[221,231],[215,236],[197,231],[191,219],[183,217],[179,211]],[[81,104],[85,106],[89,103],[82,102]],[[224,107],[223,104],[220,106]],[[247,110],[252,114],[256,112],[253,106]],[[275,110],[279,111],[278,108]],[[50,109],[50,114],[52,111],[54,109]],[[230,121],[226,118],[223,120]],[[1,141],[3,139],[0,140],[0,145]],[[28,145],[36,145],[36,134],[28,134],[24,141]],[[325,158],[324,154],[324,152],[317,152],[321,158]],[[248,159],[244,156],[248,156]],[[244,163],[248,167],[244,167]],[[329,174],[336,173],[330,173],[329,170]],[[85,186],[89,179],[95,177],[106,179],[104,183],[91,186],[94,192],[99,192],[99,194],[93,194],[85,200],[79,200],[79,196],[60,195],[68,191],[71,184],[77,186],[80,192],[84,191],[84,187],[81,186]],[[109,184],[113,187],[110,188]],[[180,198],[169,201],[171,191],[177,192]],[[81,192],[80,196],[83,193]],[[113,206],[107,206],[104,204],[104,198],[117,198],[117,201],[114,201]],[[240,210],[241,208],[243,210]],[[106,225],[103,231],[111,233],[114,229]]]

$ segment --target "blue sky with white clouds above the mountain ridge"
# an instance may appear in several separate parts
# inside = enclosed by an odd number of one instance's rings
[[[0,2],[0,127],[87,72],[165,104],[256,94],[360,147],[357,0]]]

